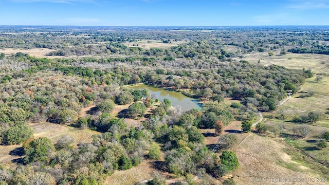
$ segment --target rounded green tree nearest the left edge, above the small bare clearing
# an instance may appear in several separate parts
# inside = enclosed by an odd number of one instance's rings
[[[7,144],[21,144],[33,136],[33,130],[26,124],[10,127],[4,133],[4,140]]]

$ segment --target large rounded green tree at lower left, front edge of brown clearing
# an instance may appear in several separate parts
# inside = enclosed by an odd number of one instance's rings
[[[31,141],[25,148],[25,162],[45,161],[51,152],[55,151],[55,146],[50,139],[40,137]]]

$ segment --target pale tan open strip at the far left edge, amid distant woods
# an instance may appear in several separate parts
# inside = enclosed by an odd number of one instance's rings
[[[54,49],[48,49],[48,48],[34,48],[34,49],[12,49],[12,48],[5,48],[1,49],[0,53],[5,53],[5,54],[11,54],[11,53],[16,53],[16,52],[22,52],[22,53],[28,53],[32,57],[36,58],[47,58],[47,59],[57,59],[57,58],[64,58],[62,56],[47,56],[49,52],[51,51],[56,51]]]

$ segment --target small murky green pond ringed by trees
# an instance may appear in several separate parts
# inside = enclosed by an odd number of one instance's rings
[[[184,112],[186,110],[190,110],[192,108],[196,108],[198,110],[201,109],[202,104],[199,103],[196,99],[189,98],[179,92],[175,92],[172,90],[166,90],[162,88],[152,87],[150,85],[137,85],[133,87],[129,87],[134,90],[144,90],[148,89],[151,93],[151,96],[154,99],[159,99],[159,101],[163,101],[163,99],[167,98],[171,101],[172,106],[180,106],[181,111]]]

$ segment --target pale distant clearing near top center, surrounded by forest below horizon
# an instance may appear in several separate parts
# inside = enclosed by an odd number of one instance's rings
[[[184,42],[175,42],[172,43],[162,43],[159,40],[141,40],[136,42],[125,42],[124,45],[128,47],[140,47],[143,49],[150,49],[150,48],[170,48],[173,46],[178,46],[178,44],[182,44]]]

